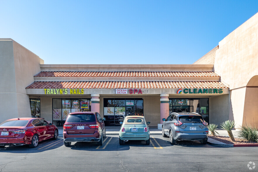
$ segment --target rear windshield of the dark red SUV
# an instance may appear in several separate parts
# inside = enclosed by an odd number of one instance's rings
[[[80,122],[95,122],[96,118],[94,114],[74,114],[69,115],[66,122],[68,123],[80,123]]]

